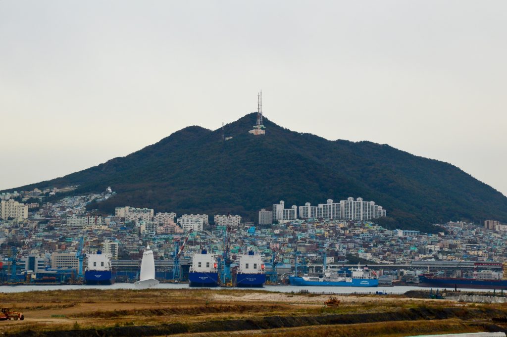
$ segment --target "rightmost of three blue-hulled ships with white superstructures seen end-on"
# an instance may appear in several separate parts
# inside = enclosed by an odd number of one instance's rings
[[[261,255],[253,250],[239,255],[239,266],[236,274],[237,287],[262,287],[266,282],[264,262]]]

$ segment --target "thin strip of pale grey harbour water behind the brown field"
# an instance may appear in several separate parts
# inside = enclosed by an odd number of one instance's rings
[[[44,290],[77,290],[77,289],[132,289],[136,290],[133,283],[115,283],[111,285],[3,285],[0,286],[0,292],[26,292],[26,291],[44,291]],[[189,289],[188,283],[160,283],[155,289]],[[220,288],[215,287],[211,289],[242,289],[245,288]],[[319,286],[293,286],[293,285],[266,285],[259,290],[267,290],[274,292],[299,292],[300,290],[308,290],[309,292],[323,292],[323,293],[336,293],[336,294],[368,294],[375,292],[383,292],[388,294],[403,294],[409,290],[429,290],[429,288],[414,287],[414,286],[394,286],[394,287],[319,287]],[[436,288],[433,289],[437,290]],[[442,291],[444,289],[439,289]],[[454,290],[454,288],[447,288],[447,290]],[[493,289],[462,289],[463,292],[493,292]],[[496,292],[499,292],[498,290]]]

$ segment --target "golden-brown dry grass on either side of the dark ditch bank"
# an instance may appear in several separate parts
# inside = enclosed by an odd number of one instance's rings
[[[399,296],[340,296],[339,307],[323,306],[326,295],[286,294],[263,290],[232,289],[147,289],[147,290],[55,290],[25,293],[0,293],[2,306],[22,310],[24,321],[0,322],[0,334],[70,329],[101,329],[123,326],[156,326],[159,324],[200,324],[209,321],[224,322],[232,319],[263,319],[265,316],[299,317],[331,314],[362,314],[377,312],[407,311],[410,309],[441,309],[443,307],[497,308],[501,305],[462,304],[448,301],[433,301]],[[459,315],[457,315],[459,317]],[[483,315],[485,316],[485,315]],[[305,326],[299,328],[235,331],[231,334],[263,335],[346,335],[377,336],[404,335],[407,326],[413,334],[429,332],[466,332],[474,328],[455,320],[383,322],[368,324]],[[381,328],[382,327],[382,328]],[[445,329],[447,327],[447,330]],[[412,331],[410,330],[410,331]],[[379,334],[376,331],[383,331]],[[397,333],[397,334],[396,334]],[[202,333],[201,333],[202,334]],[[201,335],[195,334],[195,335]],[[409,333],[410,334],[410,333]],[[226,335],[204,333],[202,335]],[[405,334],[406,335],[406,334]]]

